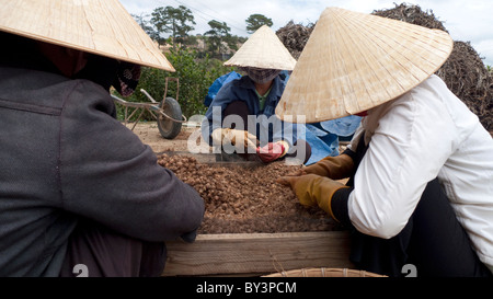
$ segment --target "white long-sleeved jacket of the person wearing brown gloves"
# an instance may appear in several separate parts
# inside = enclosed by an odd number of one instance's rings
[[[478,116],[432,76],[369,110],[349,149],[363,133],[370,147],[348,199],[353,225],[369,235],[394,237],[438,176],[480,260],[493,272],[493,139]]]

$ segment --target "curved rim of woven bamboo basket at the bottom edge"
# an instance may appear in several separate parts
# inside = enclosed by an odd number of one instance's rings
[[[263,277],[387,277],[366,271],[348,269],[348,268],[301,268],[283,271],[264,275]]]

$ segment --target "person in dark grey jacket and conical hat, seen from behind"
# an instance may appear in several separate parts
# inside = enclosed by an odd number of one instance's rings
[[[0,10],[0,276],[160,276],[204,200],[121,124],[140,66],[173,71],[117,0]]]

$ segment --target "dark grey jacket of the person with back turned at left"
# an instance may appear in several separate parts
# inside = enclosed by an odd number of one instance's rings
[[[129,237],[195,231],[204,200],[88,80],[0,67],[0,276],[58,276],[85,217]]]

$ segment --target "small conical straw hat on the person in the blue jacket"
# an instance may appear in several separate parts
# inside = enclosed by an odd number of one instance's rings
[[[261,69],[293,70],[296,59],[279,41],[279,37],[263,25],[225,62],[225,66]]]

